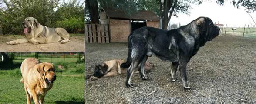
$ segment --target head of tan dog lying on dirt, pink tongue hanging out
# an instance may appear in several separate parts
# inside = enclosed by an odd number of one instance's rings
[[[24,27],[24,33],[28,34],[31,32],[32,29],[38,28],[39,23],[37,22],[37,19],[34,17],[27,17],[25,20],[22,22],[22,26]]]

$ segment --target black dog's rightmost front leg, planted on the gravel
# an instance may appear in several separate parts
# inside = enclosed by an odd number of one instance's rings
[[[179,62],[179,71],[182,79],[182,85],[185,91],[192,91],[189,87],[188,79],[187,79],[187,63],[188,62]]]

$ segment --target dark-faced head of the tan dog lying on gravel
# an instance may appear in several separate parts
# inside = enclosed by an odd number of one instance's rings
[[[108,65],[106,65],[104,62],[102,62],[101,64],[98,64],[95,66],[94,77],[101,78],[105,74],[107,74],[107,71],[108,71]]]

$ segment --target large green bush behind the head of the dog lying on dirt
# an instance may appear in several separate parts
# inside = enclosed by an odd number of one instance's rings
[[[59,0],[3,0],[6,8],[0,8],[0,21],[3,34],[21,33],[21,21],[32,16],[44,26],[55,21],[55,12]]]

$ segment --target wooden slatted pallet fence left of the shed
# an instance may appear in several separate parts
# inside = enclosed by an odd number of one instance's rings
[[[109,43],[109,25],[108,24],[86,24],[85,41],[87,43]]]

